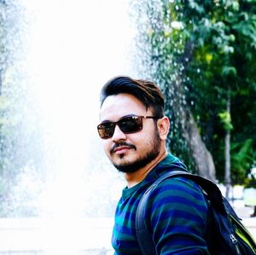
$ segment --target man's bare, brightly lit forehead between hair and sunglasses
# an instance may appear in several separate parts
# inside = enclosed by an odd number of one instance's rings
[[[145,115],[148,111],[137,97],[122,93],[106,98],[100,111],[100,120],[117,121],[125,115]]]

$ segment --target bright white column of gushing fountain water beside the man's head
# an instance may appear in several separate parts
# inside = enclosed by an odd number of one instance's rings
[[[55,200],[65,197],[63,205],[58,200],[61,212],[55,208],[55,213],[60,216],[64,207],[73,215],[80,185],[85,184],[81,176],[95,167],[88,165],[88,158],[99,163],[104,157],[94,150],[95,144],[100,146],[100,88],[108,78],[131,72],[131,27],[119,0],[23,2],[32,18],[26,61],[42,113],[48,171],[55,177],[46,200],[54,207]],[[71,212],[64,206],[67,199],[74,204],[69,205]]]

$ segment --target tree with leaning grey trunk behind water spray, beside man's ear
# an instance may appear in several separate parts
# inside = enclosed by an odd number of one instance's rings
[[[166,113],[172,123],[169,146],[175,154],[195,163],[196,170],[205,177],[215,179],[212,155],[201,139],[200,130],[186,101],[185,70],[193,54],[193,44],[187,41],[187,31],[179,21],[181,3],[151,1],[147,9],[137,6],[140,73],[154,79],[166,96]],[[141,20],[148,19],[147,25]],[[175,68],[173,68],[175,67]],[[190,154],[187,153],[189,148]],[[189,155],[192,155],[193,161]]]

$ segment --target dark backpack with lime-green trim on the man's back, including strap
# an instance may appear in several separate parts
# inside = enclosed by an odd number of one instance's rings
[[[210,222],[207,233],[207,246],[213,255],[255,255],[256,244],[253,236],[241,223],[228,200],[218,186],[199,175],[185,171],[170,171],[157,179],[143,194],[137,207],[136,232],[137,241],[143,255],[155,255],[154,242],[144,221],[144,211],[150,191],[169,177],[183,176],[192,179],[203,190],[210,207]]]

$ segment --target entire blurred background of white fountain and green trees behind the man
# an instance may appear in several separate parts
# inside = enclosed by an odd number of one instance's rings
[[[125,180],[96,133],[119,74],[166,96],[168,149],[256,237],[255,0],[0,0],[0,255],[112,254]]]

